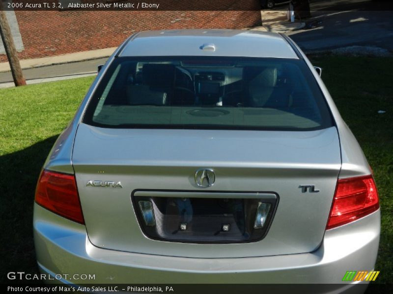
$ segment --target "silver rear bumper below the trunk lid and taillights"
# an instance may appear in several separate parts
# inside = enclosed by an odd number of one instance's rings
[[[177,283],[334,283],[347,270],[373,270],[379,245],[380,211],[329,230],[314,252],[247,258],[182,258],[114,251],[92,245],[85,226],[35,204],[34,242],[42,272],[60,282]],[[69,280],[77,273],[94,279]],[[67,279],[64,275],[67,275]]]

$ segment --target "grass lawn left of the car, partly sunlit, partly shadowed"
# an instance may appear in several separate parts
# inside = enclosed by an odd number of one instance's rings
[[[42,165],[94,77],[0,90],[0,281],[37,271],[32,207]]]

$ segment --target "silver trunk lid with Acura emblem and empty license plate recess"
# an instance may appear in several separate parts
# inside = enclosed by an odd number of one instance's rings
[[[77,131],[72,162],[92,244],[121,251],[205,258],[316,249],[325,232],[341,165],[335,127],[316,131],[116,129],[84,123]],[[200,169],[214,172],[213,186],[197,185],[195,175]],[[304,191],[304,186],[310,188]],[[205,242],[197,242],[198,237],[184,240],[149,235],[140,217],[140,198],[136,197],[156,197],[157,201],[164,197],[168,200],[165,205],[191,199],[196,218],[229,216],[233,229],[240,226],[235,225],[231,210],[210,213],[203,207],[211,211],[219,207],[212,200],[216,198],[244,206],[245,201],[258,203],[258,199],[270,197],[274,205],[269,227],[256,240],[247,236],[247,240],[233,237],[228,242],[210,242],[202,234],[200,241]],[[182,222],[179,216],[173,220],[174,227]],[[221,219],[205,223],[225,224]],[[217,228],[205,230],[211,233]]]

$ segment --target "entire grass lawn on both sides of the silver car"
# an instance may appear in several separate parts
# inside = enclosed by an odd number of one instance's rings
[[[393,283],[393,58],[312,57],[374,170],[382,211],[375,270]],[[34,273],[32,205],[42,164],[94,77],[0,90],[1,281]],[[378,114],[378,110],[386,111]],[[365,270],[365,269],[348,269]]]

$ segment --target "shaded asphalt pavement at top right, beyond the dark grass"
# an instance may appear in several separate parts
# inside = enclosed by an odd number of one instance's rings
[[[351,46],[379,47],[393,52],[392,1],[314,0],[311,18],[294,24],[286,21],[287,9],[288,4],[284,4],[262,11],[263,26],[268,31],[291,36],[306,52]],[[308,24],[317,21],[322,24],[308,28]]]

